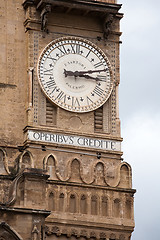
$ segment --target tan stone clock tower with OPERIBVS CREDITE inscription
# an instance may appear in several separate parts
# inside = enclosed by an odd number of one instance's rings
[[[0,3],[0,238],[129,240],[116,0]]]

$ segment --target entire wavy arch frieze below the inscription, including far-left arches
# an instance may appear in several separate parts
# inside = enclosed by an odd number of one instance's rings
[[[34,159],[30,151],[24,150],[15,159],[13,171],[9,171],[7,154],[0,149],[0,164],[4,174],[16,175],[25,168],[34,168]],[[43,159],[43,169],[47,170],[51,180],[63,182],[76,182],[100,186],[131,188],[131,167],[126,162],[115,164],[113,161],[107,163],[101,158],[92,160],[89,164],[83,159],[57,159],[55,154],[48,154]],[[2,173],[2,174],[3,174]]]

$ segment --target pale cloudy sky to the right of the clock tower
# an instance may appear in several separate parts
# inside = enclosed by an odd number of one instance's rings
[[[118,3],[122,151],[137,190],[132,240],[160,239],[160,0]]]

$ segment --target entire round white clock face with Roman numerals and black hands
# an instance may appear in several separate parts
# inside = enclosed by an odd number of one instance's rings
[[[82,38],[64,37],[51,42],[39,57],[37,71],[47,98],[68,111],[93,111],[112,91],[106,55]]]

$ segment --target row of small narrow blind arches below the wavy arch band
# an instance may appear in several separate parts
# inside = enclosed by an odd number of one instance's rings
[[[69,213],[71,218],[75,213],[85,214],[88,219],[97,216],[98,219],[103,219],[103,222],[111,218],[133,219],[133,200],[128,194],[112,194],[109,190],[101,189],[93,191],[92,188],[88,188],[87,192],[84,189],[78,191],[76,187],[72,189],[73,191],[69,192],[64,186],[59,191],[55,185],[50,186],[47,201],[48,210],[52,211],[53,216],[59,216],[63,212],[64,216]]]

